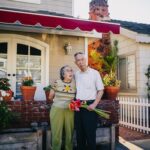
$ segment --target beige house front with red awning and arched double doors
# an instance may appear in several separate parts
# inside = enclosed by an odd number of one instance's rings
[[[88,56],[88,44],[103,32],[119,33],[118,24],[71,17],[71,0],[2,0],[0,6],[0,77],[10,79],[16,99],[22,78],[32,76],[35,100],[45,100],[43,87],[59,78],[60,67],[68,64],[77,69],[74,53]],[[67,55],[66,43],[71,44]]]

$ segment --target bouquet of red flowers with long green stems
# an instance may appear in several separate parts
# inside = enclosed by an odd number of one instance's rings
[[[79,99],[77,100],[71,100],[70,104],[69,104],[69,109],[72,111],[80,111],[80,108],[88,108],[88,105],[86,104],[86,102],[81,102]],[[95,113],[97,113],[99,116],[109,119],[109,111],[105,111],[105,110],[101,110],[98,108],[95,108],[93,110]]]

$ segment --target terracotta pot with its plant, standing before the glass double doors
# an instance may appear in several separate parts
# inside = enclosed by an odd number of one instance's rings
[[[33,84],[34,81],[32,77],[24,77],[22,79],[22,86],[20,86],[20,90],[22,92],[23,100],[34,100],[36,86],[33,86]]]

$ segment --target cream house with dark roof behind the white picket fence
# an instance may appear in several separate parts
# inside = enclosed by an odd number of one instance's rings
[[[118,40],[120,95],[147,98],[145,73],[150,65],[150,25],[114,22],[121,24],[120,35],[111,36],[112,40]]]

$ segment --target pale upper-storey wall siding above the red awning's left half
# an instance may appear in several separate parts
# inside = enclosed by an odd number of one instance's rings
[[[41,0],[41,4],[18,2],[13,0],[1,0],[0,7],[15,8],[30,11],[50,11],[66,15],[73,15],[73,0]]]

